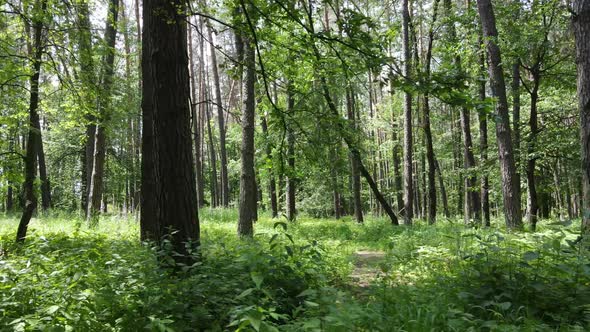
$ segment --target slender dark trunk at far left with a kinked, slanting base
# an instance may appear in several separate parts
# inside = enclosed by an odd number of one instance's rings
[[[39,123],[39,76],[41,74],[41,61],[43,56],[43,46],[41,44],[41,35],[43,34],[43,16],[47,10],[47,1],[40,0],[35,3],[39,11],[33,15],[33,75],[30,82],[30,99],[29,99],[29,128],[27,134],[27,146],[25,155],[25,183],[24,199],[25,207],[18,224],[16,232],[16,242],[24,242],[27,236],[29,222],[33,212],[37,207],[37,195],[35,194],[35,175],[37,170],[37,149],[41,144],[41,134],[35,129],[35,123]],[[40,8],[39,8],[40,7]]]

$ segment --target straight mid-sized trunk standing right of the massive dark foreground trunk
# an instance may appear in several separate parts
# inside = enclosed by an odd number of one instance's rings
[[[255,50],[250,38],[243,39],[245,77],[245,98],[242,107],[242,149],[240,174],[240,208],[238,235],[251,237],[256,216],[256,187],[254,186],[254,113],[256,82]]]

